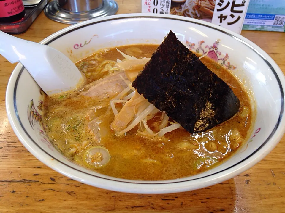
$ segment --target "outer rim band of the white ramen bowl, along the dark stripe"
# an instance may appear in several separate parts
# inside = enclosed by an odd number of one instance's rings
[[[67,28],[64,28],[62,30],[59,30],[58,32],[48,36],[47,38],[43,39],[39,43],[43,44],[49,44],[52,41],[58,39],[60,36],[66,35],[67,33],[70,33],[74,30],[78,30],[80,28],[94,25],[96,23],[101,23],[105,21],[113,21],[118,19],[126,19],[126,18],[159,18],[159,19],[171,19],[171,20],[178,20],[178,21],[186,21],[194,24],[199,24],[205,27],[212,28],[213,30],[218,30],[222,33],[225,33],[226,35],[231,36],[232,38],[240,41],[244,45],[248,46],[250,49],[255,51],[270,67],[270,69],[273,71],[273,74],[276,77],[276,80],[278,81],[280,92],[281,92],[281,111],[279,114],[278,122],[276,123],[276,126],[274,127],[272,133],[269,135],[269,137],[262,143],[261,146],[259,146],[258,149],[256,149],[253,153],[251,153],[248,157],[241,160],[240,162],[236,163],[235,165],[231,167],[227,167],[224,170],[221,170],[219,172],[206,175],[197,179],[191,179],[191,180],[168,180],[167,183],[164,183],[164,181],[131,181],[126,179],[119,179],[119,178],[104,178],[99,177],[96,175],[92,175],[90,173],[85,173],[83,171],[77,170],[76,168],[73,168],[64,162],[61,162],[57,159],[55,159],[53,156],[45,152],[32,138],[31,136],[26,132],[25,128],[23,127],[23,124],[20,121],[20,118],[18,117],[17,112],[17,106],[16,106],[16,89],[17,89],[17,83],[20,78],[21,73],[24,70],[24,67],[22,64],[18,64],[15,69],[12,72],[12,75],[9,79],[8,85],[7,85],[7,91],[6,91],[6,109],[7,114],[9,118],[9,122],[16,133],[17,137],[21,141],[21,143],[34,155],[42,161],[44,164],[52,168],[53,170],[56,170],[57,172],[60,172],[63,175],[66,175],[70,178],[73,178],[75,180],[78,180],[83,183],[87,183],[89,185],[97,186],[100,188],[105,189],[111,189],[114,191],[124,191],[124,192],[132,192],[132,193],[171,193],[171,192],[180,192],[180,191],[188,191],[192,189],[202,188],[209,185],[213,185],[215,183],[222,182],[224,180],[228,180],[235,175],[247,170],[248,168],[252,167],[254,164],[262,160],[281,140],[284,132],[285,132],[285,118],[283,116],[284,113],[284,85],[285,85],[285,78],[283,75],[283,72],[278,67],[278,65],[274,62],[274,60],[267,54],[265,51],[263,51],[260,47],[258,47],[253,42],[249,41],[248,39],[244,38],[243,36],[234,33],[230,30],[227,30],[225,28],[222,28],[218,25],[213,25],[212,23],[192,19],[188,17],[177,17],[175,15],[164,15],[164,14],[122,14],[122,15],[114,15],[109,17],[103,17],[103,18],[97,18],[94,20],[85,21],[76,25],[69,26]],[[279,133],[279,134],[277,134]],[[26,134],[26,135],[25,135]],[[28,137],[27,137],[28,136]],[[34,149],[29,145],[29,143],[33,142],[35,145],[37,145],[38,149]],[[268,143],[269,142],[269,143]],[[50,158],[53,158],[54,160],[57,160],[60,164],[63,164],[63,168],[57,168],[54,163],[51,162]],[[68,167],[68,168],[65,168]],[[71,169],[71,170],[70,170]],[[85,173],[85,175],[92,176],[91,178],[93,180],[99,178],[104,179],[103,182],[106,185],[99,185],[98,183],[94,183],[91,180],[82,180],[80,178],[80,174],[73,174],[76,170],[79,173]],[[76,173],[76,172],[75,172]],[[220,176],[217,176],[220,175]],[[108,176],[107,176],[108,177]],[[117,180],[116,180],[117,179]],[[197,180],[205,180],[205,182],[201,181],[204,184],[195,184],[194,182]],[[169,182],[172,181],[172,182]],[[112,185],[110,183],[116,183],[116,185]],[[118,184],[119,183],[119,184]],[[188,184],[187,184],[188,183]],[[108,185],[110,184],[110,185]],[[133,185],[136,185],[134,188]],[[150,187],[146,187],[146,186]],[[152,186],[160,186],[159,188],[156,188],[155,191],[152,190]],[[183,185],[183,188],[181,186]],[[167,187],[167,188],[164,188]]]

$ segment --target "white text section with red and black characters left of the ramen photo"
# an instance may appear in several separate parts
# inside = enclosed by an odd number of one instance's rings
[[[142,13],[170,14],[171,0],[142,0]]]

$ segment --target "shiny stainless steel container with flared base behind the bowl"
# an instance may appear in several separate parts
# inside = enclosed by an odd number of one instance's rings
[[[76,24],[97,17],[114,15],[118,4],[114,0],[53,0],[45,15],[57,22]]]

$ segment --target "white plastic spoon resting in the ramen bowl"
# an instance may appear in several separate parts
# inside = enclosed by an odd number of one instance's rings
[[[75,64],[60,51],[1,31],[0,54],[12,64],[21,62],[47,95],[75,89],[84,81]]]

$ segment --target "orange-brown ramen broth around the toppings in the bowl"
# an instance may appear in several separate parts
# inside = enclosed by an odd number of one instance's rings
[[[157,45],[141,44],[118,47],[125,54],[150,58]],[[86,84],[74,92],[46,96],[43,104],[43,122],[53,145],[72,161],[104,175],[132,180],[168,180],[182,178],[209,170],[232,156],[248,138],[252,123],[250,98],[241,83],[223,66],[203,57],[202,62],[234,91],[240,100],[240,109],[234,117],[203,133],[190,134],[182,127],[166,133],[162,138],[143,137],[138,126],[125,136],[116,136],[110,128],[114,114],[110,100],[81,96],[92,82],[104,78],[124,57],[115,49],[101,50],[76,63],[86,77]],[[116,103],[120,109],[124,103]],[[88,128],[97,119],[100,138]],[[148,126],[159,117],[148,121]],[[104,147],[110,161],[102,167],[86,162],[87,150]]]

